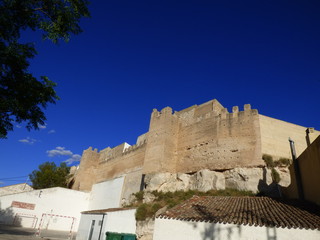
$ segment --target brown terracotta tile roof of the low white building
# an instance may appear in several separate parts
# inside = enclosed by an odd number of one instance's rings
[[[194,196],[157,218],[320,230],[319,208],[306,210],[307,206],[297,207],[268,197]]]

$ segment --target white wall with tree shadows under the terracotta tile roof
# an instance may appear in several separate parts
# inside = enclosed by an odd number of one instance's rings
[[[287,228],[267,228],[233,224],[213,224],[172,219],[155,221],[153,240],[319,240],[320,231]]]

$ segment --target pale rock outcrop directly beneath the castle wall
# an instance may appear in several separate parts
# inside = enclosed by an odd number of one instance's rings
[[[280,175],[280,186],[290,184],[287,168],[277,168]],[[264,168],[234,168],[224,172],[200,170],[193,174],[185,173],[154,173],[145,178],[145,191],[175,192],[198,190],[223,190],[226,188],[268,193],[275,191],[271,170]],[[148,200],[146,200],[148,201]]]

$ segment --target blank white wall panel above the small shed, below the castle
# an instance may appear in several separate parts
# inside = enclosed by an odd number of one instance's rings
[[[120,206],[124,177],[115,178],[92,186],[89,210],[117,208]]]

